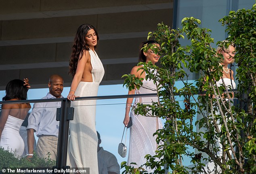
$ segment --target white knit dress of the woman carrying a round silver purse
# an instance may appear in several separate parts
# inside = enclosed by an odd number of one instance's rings
[[[156,93],[155,90],[150,89],[156,89],[156,85],[153,83],[153,80],[144,79],[143,85],[139,90],[135,90],[135,94]],[[152,104],[152,101],[157,102],[157,96],[135,98],[134,106],[136,106],[137,103]],[[130,166],[138,167],[146,163],[145,155],[155,155],[155,150],[158,145],[155,141],[156,136],[153,136],[153,133],[155,133],[157,129],[162,129],[163,125],[158,117],[136,115],[133,110],[130,112],[130,117],[132,117],[132,126],[130,127],[130,143],[127,163]],[[138,166],[130,164],[131,162],[135,162]],[[149,168],[146,170],[148,172],[153,172]]]

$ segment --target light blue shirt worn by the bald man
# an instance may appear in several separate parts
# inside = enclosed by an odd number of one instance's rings
[[[56,98],[48,93],[42,99]],[[63,96],[61,96],[63,98]],[[61,107],[61,102],[35,103],[28,117],[27,129],[34,129],[36,136],[59,135],[59,121],[56,121],[57,108]]]

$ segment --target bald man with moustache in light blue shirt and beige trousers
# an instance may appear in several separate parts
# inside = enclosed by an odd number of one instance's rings
[[[50,76],[48,87],[49,93],[42,99],[63,98],[63,78],[59,75]],[[40,158],[50,158],[56,160],[57,145],[59,135],[59,121],[56,121],[57,108],[61,107],[61,102],[42,102],[35,103],[32,112],[28,117],[27,125],[27,143],[29,154],[28,158],[33,156],[34,132],[38,136],[36,145],[36,154]]]

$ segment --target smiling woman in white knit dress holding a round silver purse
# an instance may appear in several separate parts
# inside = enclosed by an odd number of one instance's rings
[[[156,41],[146,41],[141,44],[140,47],[140,59],[139,61],[148,62],[151,61],[155,64],[159,60],[159,55],[155,54],[152,50],[143,52],[141,48],[145,44],[153,44],[159,47],[159,44]],[[139,90],[129,91],[128,94],[148,94],[156,93],[156,85],[153,83],[153,80],[145,80],[145,72],[141,74],[141,70],[138,70],[142,66],[135,66],[132,68],[130,74],[134,74],[138,78],[144,78],[143,85]],[[153,89],[153,90],[151,90]],[[132,104],[133,98],[128,98],[126,101],[126,113],[124,118],[124,125],[127,126],[130,120],[129,111]],[[137,103],[151,104],[157,102],[158,98],[155,97],[139,97],[135,98],[134,106]],[[162,122],[158,117],[147,117],[144,115],[136,115],[133,110],[130,112],[130,117],[132,118],[132,126],[130,127],[130,144],[129,144],[129,153],[128,153],[128,165],[139,167],[146,163],[145,155],[150,154],[151,156],[155,155],[155,150],[157,149],[158,144],[156,143],[156,136],[153,136],[153,133],[157,129],[162,129]],[[135,162],[137,166],[130,164]],[[153,170],[147,168],[149,172]]]

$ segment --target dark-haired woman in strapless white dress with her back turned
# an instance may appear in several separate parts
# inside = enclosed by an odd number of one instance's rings
[[[26,100],[29,88],[28,80],[11,80],[6,86],[6,96],[3,101]],[[24,151],[24,141],[19,129],[30,109],[29,103],[2,104],[0,116],[0,147],[21,157]]]

